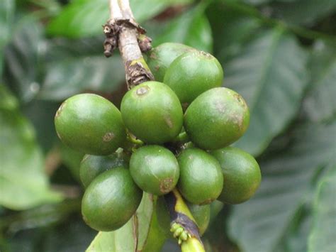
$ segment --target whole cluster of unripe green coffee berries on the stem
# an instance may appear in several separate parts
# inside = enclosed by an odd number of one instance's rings
[[[82,214],[96,230],[123,226],[143,191],[159,197],[177,187],[191,212],[207,206],[210,213],[215,199],[250,199],[261,181],[252,155],[230,147],[245,133],[250,114],[240,94],[221,87],[218,60],[164,43],[148,53],[147,63],[157,82],[130,89],[120,111],[96,94],[78,94],[55,116],[63,143],[86,153]]]

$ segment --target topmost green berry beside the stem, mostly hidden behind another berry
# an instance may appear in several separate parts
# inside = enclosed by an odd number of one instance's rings
[[[150,50],[147,57],[147,65],[150,67],[155,80],[162,82],[169,65],[179,55],[193,50],[196,49],[180,43],[162,43]]]

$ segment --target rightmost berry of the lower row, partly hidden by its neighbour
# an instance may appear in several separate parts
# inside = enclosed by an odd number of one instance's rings
[[[211,152],[224,175],[223,192],[218,200],[228,204],[247,201],[257,191],[262,180],[257,161],[244,150],[226,147]]]

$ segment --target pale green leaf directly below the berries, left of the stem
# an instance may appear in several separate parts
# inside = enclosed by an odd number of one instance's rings
[[[161,233],[150,230],[153,226],[153,214],[154,217],[156,216],[154,207],[152,195],[144,193],[135,217],[132,217],[121,229],[99,232],[86,251],[157,251],[157,248],[162,246],[164,239],[162,241]],[[149,237],[149,234],[152,236]],[[153,241],[155,239],[161,243]]]

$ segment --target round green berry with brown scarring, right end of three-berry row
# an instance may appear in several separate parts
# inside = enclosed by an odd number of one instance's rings
[[[210,89],[190,104],[184,128],[199,148],[215,150],[237,141],[247,130],[250,112],[245,100],[231,89]]]

